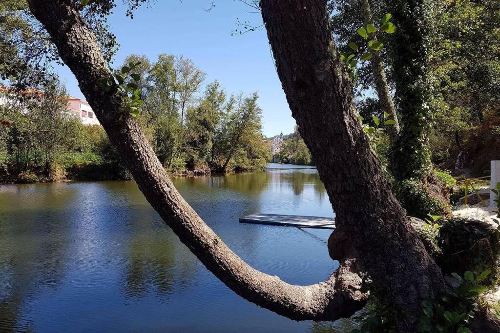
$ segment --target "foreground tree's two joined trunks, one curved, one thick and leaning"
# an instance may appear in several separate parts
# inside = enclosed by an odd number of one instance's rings
[[[249,267],[183,200],[137,122],[123,108],[123,96],[115,88],[103,92],[97,84],[109,70],[74,2],[28,3],[148,202],[225,285],[291,319],[335,320],[351,315],[365,301],[359,277],[353,274],[359,271],[357,251],[379,295],[400,311],[399,329],[414,330],[421,301],[439,293],[443,279],[390,192],[380,162],[350,111],[351,87],[331,40],[324,0],[262,0],[279,77],[335,209],[338,229],[333,235],[342,236],[332,242],[337,248],[334,256],[341,261],[339,269],[327,282],[307,287],[286,284]]]

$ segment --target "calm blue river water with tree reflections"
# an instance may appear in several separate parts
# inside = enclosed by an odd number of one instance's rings
[[[329,231],[240,224],[262,212],[333,216],[315,168],[174,184],[253,267],[291,284],[336,268]],[[183,246],[134,182],[0,186],[0,331],[344,332],[293,322],[236,296]]]

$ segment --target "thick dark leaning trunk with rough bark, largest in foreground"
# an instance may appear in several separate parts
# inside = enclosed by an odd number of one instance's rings
[[[352,111],[351,84],[331,39],[324,0],[261,0],[276,68],[298,129],[377,296],[414,331],[421,302],[443,290],[439,268],[392,195]],[[397,236],[396,236],[397,235]]]

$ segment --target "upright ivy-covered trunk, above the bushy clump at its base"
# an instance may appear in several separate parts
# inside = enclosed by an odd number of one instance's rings
[[[391,151],[396,180],[423,179],[432,170],[428,150],[432,82],[432,0],[390,0],[397,31],[393,40],[393,68],[402,127]]]

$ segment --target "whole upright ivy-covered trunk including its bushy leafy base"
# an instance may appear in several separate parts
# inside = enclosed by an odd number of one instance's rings
[[[390,0],[397,31],[393,40],[395,96],[402,122],[389,152],[389,169],[398,199],[411,216],[450,216],[446,185],[433,174],[428,148],[432,118],[432,73],[429,68],[434,44],[434,15],[439,1]]]

